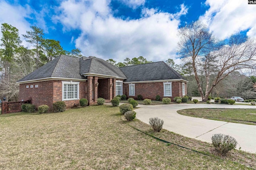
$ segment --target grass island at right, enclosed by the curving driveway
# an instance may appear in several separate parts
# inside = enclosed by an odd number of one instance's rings
[[[256,109],[183,109],[181,115],[256,125]],[[252,122],[253,121],[253,122]]]

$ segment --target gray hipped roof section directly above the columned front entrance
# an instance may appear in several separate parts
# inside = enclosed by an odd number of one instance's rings
[[[126,78],[120,68],[96,57],[80,58],[80,74],[94,73]]]

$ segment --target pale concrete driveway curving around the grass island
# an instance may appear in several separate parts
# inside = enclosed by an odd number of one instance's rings
[[[149,124],[150,117],[164,120],[164,129],[180,135],[211,143],[211,137],[216,133],[230,135],[238,141],[241,150],[256,153],[256,125],[244,125],[215,121],[177,113],[181,109],[189,108],[253,108],[256,106],[216,105],[216,104],[170,104],[170,105],[139,105],[136,117]]]

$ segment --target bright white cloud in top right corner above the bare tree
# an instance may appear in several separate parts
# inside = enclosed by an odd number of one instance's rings
[[[249,29],[247,35],[256,37],[256,6],[245,0],[206,0],[210,8],[200,17],[213,31],[223,39],[231,34]]]

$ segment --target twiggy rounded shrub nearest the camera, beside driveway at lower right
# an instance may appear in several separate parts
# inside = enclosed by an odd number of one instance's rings
[[[221,155],[226,155],[229,150],[235,149],[237,145],[236,139],[221,133],[212,135],[211,139],[213,147]]]

